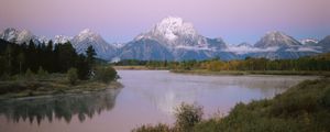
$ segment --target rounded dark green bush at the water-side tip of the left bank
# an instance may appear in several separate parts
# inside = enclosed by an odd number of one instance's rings
[[[96,69],[95,79],[102,82],[110,82],[118,78],[117,72],[112,67],[99,67]]]

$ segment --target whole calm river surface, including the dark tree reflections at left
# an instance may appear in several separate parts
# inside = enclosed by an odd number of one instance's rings
[[[122,89],[0,101],[0,132],[127,132],[173,123],[180,102],[204,106],[205,118],[237,102],[272,98],[316,77],[193,76],[165,70],[120,70]]]

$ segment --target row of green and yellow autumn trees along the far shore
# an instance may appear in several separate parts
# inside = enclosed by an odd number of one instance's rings
[[[317,56],[300,57],[297,59],[267,59],[252,58],[234,61],[221,61],[212,58],[207,61],[134,61],[124,59],[113,65],[143,65],[148,68],[167,69],[207,69],[211,72],[220,70],[330,70],[330,53]]]

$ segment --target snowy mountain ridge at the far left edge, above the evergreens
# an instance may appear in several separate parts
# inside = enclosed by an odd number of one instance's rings
[[[34,34],[32,34],[29,30],[16,30],[13,28],[6,29],[0,33],[0,38],[12,42],[12,43],[18,43],[18,44],[23,44],[26,43],[29,44],[30,40],[32,40],[34,43],[40,44],[44,40],[44,37],[38,37]]]

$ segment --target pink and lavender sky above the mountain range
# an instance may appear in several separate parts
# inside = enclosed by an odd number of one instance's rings
[[[255,43],[268,31],[295,38],[330,35],[330,0],[0,0],[0,30],[35,35],[98,32],[124,43],[166,16],[179,16],[207,37]]]

